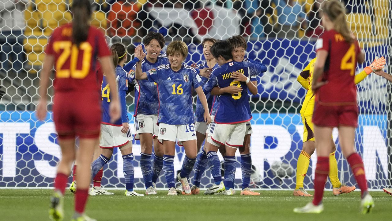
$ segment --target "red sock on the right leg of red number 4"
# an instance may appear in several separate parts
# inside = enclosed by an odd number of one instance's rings
[[[353,153],[347,157],[347,161],[350,164],[352,173],[357,180],[359,188],[361,188],[361,195],[367,191],[367,180],[365,176],[365,169],[363,168],[362,158],[359,157],[358,153]]]

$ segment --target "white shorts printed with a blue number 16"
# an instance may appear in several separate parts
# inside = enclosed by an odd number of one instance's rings
[[[196,140],[196,131],[194,124],[185,125],[170,125],[166,123],[159,123],[158,141],[170,140],[178,141],[178,145],[182,145],[181,141]]]

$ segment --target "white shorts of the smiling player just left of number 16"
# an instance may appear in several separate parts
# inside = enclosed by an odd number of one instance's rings
[[[139,140],[140,133],[151,133],[152,138],[158,136],[158,114],[138,114],[135,117],[135,140]]]

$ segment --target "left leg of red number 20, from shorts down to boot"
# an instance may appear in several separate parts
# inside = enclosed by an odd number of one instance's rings
[[[51,208],[49,209],[49,218],[54,221],[60,221],[64,218],[64,192],[67,185],[67,179],[70,174],[71,165],[76,156],[75,138],[58,139],[61,147],[62,158],[57,165],[57,175],[54,179],[54,193],[51,197]]]

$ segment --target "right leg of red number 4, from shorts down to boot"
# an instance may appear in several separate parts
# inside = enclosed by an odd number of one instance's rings
[[[363,167],[362,158],[355,152],[355,127],[339,126],[339,143],[346,157],[352,173],[357,180],[358,186],[361,189],[361,210],[362,214],[367,214],[372,211],[374,201],[367,191],[367,179],[365,169]]]

